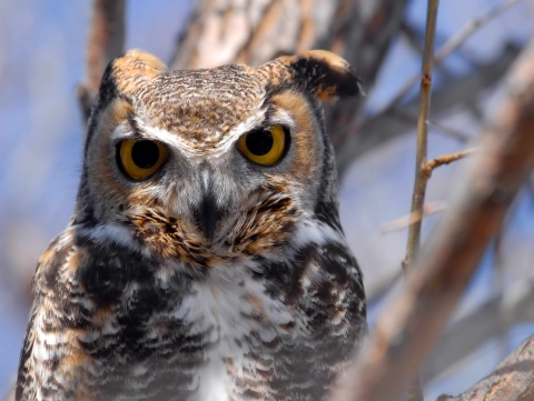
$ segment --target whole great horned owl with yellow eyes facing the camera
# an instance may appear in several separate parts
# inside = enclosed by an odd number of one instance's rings
[[[324,400],[366,331],[319,100],[326,51],[167,71],[129,51],[41,257],[17,400]]]

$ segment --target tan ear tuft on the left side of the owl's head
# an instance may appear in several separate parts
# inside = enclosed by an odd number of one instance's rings
[[[156,56],[142,50],[129,50],[109,63],[100,83],[100,96],[110,88],[131,96],[144,83],[148,83],[166,70],[167,66]]]

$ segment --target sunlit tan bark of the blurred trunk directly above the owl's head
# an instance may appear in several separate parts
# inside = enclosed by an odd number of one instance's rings
[[[171,69],[261,64],[308,50],[327,36],[340,0],[197,0]],[[358,30],[362,28],[355,28]]]

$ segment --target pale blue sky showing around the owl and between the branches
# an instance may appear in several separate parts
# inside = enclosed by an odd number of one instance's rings
[[[501,3],[497,0],[442,1],[438,43],[457,32],[469,19]],[[90,21],[89,0],[22,0],[0,2],[0,395],[12,381],[27,320],[28,304],[20,301],[27,289],[20,283],[31,274],[47,243],[68,223],[80,170],[83,138],[76,88],[85,72],[85,44]],[[148,50],[169,61],[191,1],[131,0],[127,9],[127,48]],[[412,0],[407,20],[423,28],[426,1]],[[532,33],[532,6],[516,7],[481,29],[464,46],[475,62],[494,59],[507,41],[524,42]],[[473,60],[453,56],[446,66],[454,74],[467,73]],[[421,61],[403,40],[396,40],[369,93],[368,113],[384,106]],[[436,84],[439,84],[437,76]],[[451,123],[477,132],[462,112]],[[429,154],[461,150],[464,144],[443,136],[431,136]],[[362,158],[342,182],[342,220],[367,281],[395,272],[403,259],[406,232],[380,232],[380,224],[409,210],[415,156],[414,137],[393,141]],[[446,201],[455,174],[464,162],[445,167],[433,176],[429,201]],[[425,232],[438,217],[425,221]],[[534,201],[523,193],[511,221],[505,247],[525,254],[521,265],[532,267],[525,241],[534,239]],[[532,243],[532,242],[530,242]],[[387,251],[385,251],[387,250]],[[523,252],[523,253],[521,253]],[[491,295],[493,269],[485,258],[465,304]],[[511,262],[514,258],[511,257]],[[525,269],[514,270],[522,279]],[[512,280],[512,279],[511,279]],[[377,304],[372,317],[379,313]],[[465,307],[464,307],[465,308]],[[534,328],[523,324],[507,335],[515,347]],[[495,344],[483,344],[472,361],[452,379],[436,380],[427,395],[455,392],[473,384],[498,361]],[[477,357],[478,355],[478,357]]]

